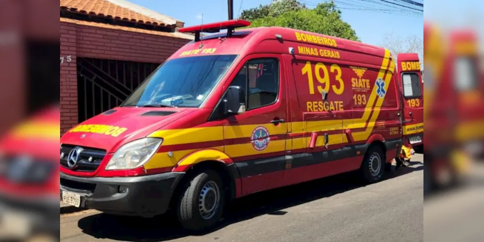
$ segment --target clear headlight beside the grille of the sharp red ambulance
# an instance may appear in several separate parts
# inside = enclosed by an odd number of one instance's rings
[[[163,139],[142,138],[127,143],[114,153],[106,170],[133,169],[144,165],[158,150]]]

